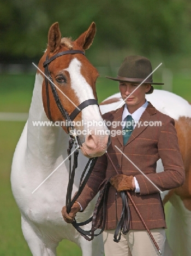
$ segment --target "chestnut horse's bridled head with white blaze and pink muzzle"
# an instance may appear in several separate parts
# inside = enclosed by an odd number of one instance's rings
[[[56,22],[50,27],[47,49],[39,62],[45,73],[42,97],[47,118],[59,122],[67,133],[71,132],[71,119],[81,151],[89,158],[103,155],[109,143],[109,130],[97,106],[99,74],[85,57],[95,34],[96,24],[92,22],[76,40],[61,38]]]

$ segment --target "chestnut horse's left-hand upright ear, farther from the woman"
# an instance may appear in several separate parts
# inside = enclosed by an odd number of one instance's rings
[[[50,53],[53,53],[55,50],[59,50],[59,44],[61,43],[61,32],[59,31],[58,22],[52,24],[49,29],[48,36],[48,47],[50,49]]]

